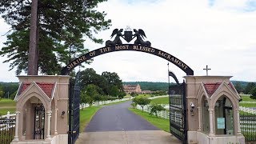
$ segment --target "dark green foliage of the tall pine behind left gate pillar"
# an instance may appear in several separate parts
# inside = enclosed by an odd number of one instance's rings
[[[83,42],[94,37],[99,30],[106,30],[110,20],[105,12],[99,12],[98,3],[106,0],[43,0],[38,1],[37,47],[38,69],[44,74],[58,74],[62,64],[74,58],[76,52],[87,51]],[[11,26],[7,34],[6,46],[0,55],[6,55],[10,70],[17,67],[16,73],[27,72],[30,35],[31,1],[2,0],[0,14]],[[73,49],[73,50],[72,50]]]

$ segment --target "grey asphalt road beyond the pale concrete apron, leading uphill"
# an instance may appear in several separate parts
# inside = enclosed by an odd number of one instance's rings
[[[86,126],[85,132],[99,131],[132,131],[132,130],[159,130],[149,122],[134,114],[127,108],[129,102],[104,106],[94,115]]]

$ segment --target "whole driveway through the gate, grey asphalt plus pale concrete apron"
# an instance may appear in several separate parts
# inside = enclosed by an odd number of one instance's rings
[[[127,108],[131,102],[104,106],[79,135],[76,144],[181,144]]]

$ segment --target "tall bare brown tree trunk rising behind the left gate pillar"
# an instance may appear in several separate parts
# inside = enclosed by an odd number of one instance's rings
[[[38,0],[32,0],[30,21],[30,50],[27,73],[28,75],[38,75],[37,20]]]

